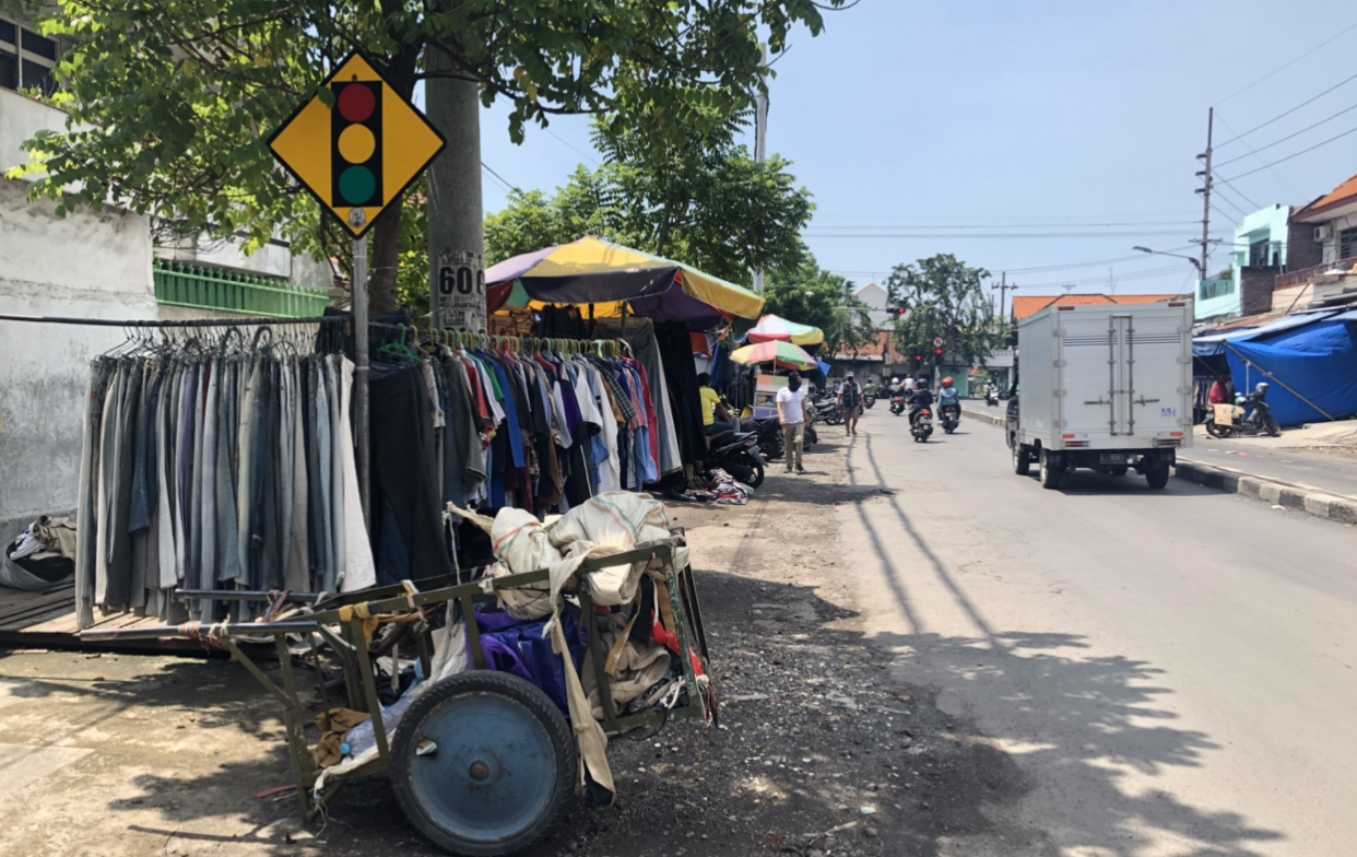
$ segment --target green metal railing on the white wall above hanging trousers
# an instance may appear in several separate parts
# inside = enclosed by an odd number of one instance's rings
[[[156,259],[155,277],[156,300],[175,307],[312,318],[323,315],[330,303],[330,292],[323,288],[167,259]]]

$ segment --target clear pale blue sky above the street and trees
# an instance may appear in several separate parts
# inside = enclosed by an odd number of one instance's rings
[[[1219,238],[1234,236],[1225,217],[1308,202],[1357,172],[1353,133],[1235,178],[1357,129],[1354,109],[1248,151],[1353,107],[1357,79],[1231,141],[1357,75],[1350,0],[1303,11],[1259,0],[862,0],[826,18],[818,38],[802,31],[776,62],[768,151],[816,197],[806,242],[821,266],[859,284],[954,253],[996,281],[1011,272],[1019,295],[1101,292],[1109,277],[1118,292],[1182,291],[1189,262],[1130,247],[1197,253],[1194,156],[1210,106],[1216,163],[1240,158],[1216,170],[1234,185],[1217,183]],[[498,105],[483,115],[482,158],[506,182],[551,189],[596,163],[588,120],[529,128],[514,145],[505,115]],[[486,211],[503,204],[484,175]],[[1227,263],[1213,251],[1212,270]]]

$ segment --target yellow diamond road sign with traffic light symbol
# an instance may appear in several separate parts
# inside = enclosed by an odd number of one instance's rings
[[[446,140],[360,52],[349,54],[323,86],[334,94],[334,107],[312,98],[273,132],[269,148],[361,238],[377,215],[400,201]]]

